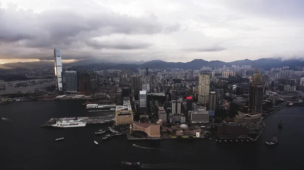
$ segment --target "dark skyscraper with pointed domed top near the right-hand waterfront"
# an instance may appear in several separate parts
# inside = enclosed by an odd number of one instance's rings
[[[262,113],[263,92],[262,75],[256,70],[249,86],[248,113]]]

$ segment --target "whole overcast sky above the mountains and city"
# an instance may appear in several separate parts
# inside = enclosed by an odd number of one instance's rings
[[[302,0],[0,0],[0,64],[304,54]]]

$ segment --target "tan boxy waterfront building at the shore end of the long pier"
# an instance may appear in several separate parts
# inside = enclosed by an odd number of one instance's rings
[[[116,124],[132,124],[133,123],[133,111],[131,105],[128,106],[116,106],[115,111]]]

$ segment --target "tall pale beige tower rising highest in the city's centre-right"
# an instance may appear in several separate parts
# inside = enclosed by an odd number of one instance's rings
[[[199,103],[208,103],[209,93],[209,74],[199,74]]]

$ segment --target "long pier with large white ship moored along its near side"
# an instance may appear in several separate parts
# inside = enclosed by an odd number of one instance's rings
[[[78,120],[84,120],[87,122],[87,124],[113,123],[115,121],[115,115],[112,114],[107,116],[51,118],[40,127],[51,126],[52,124],[55,124],[56,121],[74,120],[75,118],[77,118]]]

